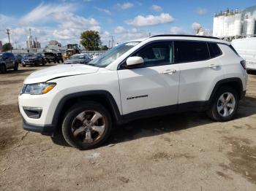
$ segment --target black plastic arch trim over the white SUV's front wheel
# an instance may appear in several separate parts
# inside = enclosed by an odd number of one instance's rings
[[[121,113],[111,93],[106,90],[90,90],[71,93],[61,98],[61,101],[59,101],[56,111],[54,112],[52,124],[56,128],[59,127],[64,119],[67,109],[80,101],[96,101],[99,104],[102,104],[110,112],[113,122],[118,122],[121,118]]]

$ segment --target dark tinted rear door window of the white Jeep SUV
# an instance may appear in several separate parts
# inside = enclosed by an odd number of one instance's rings
[[[175,62],[204,61],[210,58],[206,42],[175,41]]]

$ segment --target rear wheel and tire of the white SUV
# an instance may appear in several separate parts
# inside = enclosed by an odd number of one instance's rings
[[[229,101],[226,99],[228,95],[230,95]],[[222,102],[222,100],[224,100],[224,102]],[[208,117],[219,122],[233,120],[238,109],[238,102],[239,99],[236,90],[228,86],[220,87],[219,90],[217,90],[216,96],[214,96],[214,101],[211,104],[211,108],[207,112]],[[226,111],[225,107],[227,107]]]

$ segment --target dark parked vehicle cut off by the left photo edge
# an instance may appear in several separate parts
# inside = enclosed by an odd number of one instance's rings
[[[16,61],[15,55],[11,52],[4,52],[0,54],[0,71],[6,73],[7,69],[18,70],[18,62]]]

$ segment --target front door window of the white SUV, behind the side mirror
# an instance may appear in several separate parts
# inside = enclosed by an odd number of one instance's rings
[[[161,66],[173,63],[173,42],[154,42],[135,52],[132,56],[140,56],[144,66]]]

